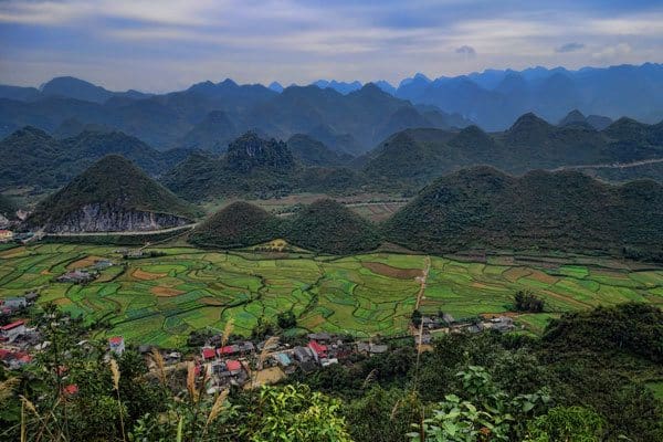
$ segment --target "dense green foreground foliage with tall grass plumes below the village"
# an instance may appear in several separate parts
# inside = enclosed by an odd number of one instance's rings
[[[75,320],[48,313],[39,327],[51,345],[29,370],[0,372],[7,440],[21,433],[25,441],[145,442],[663,436],[663,403],[643,386],[663,376],[663,312],[652,306],[565,315],[543,339],[440,335],[430,351],[394,343],[387,354],[355,355],[349,365],[297,372],[278,387],[224,392],[208,391],[193,365],[165,368],[157,354],[151,371],[133,350],[108,360],[104,346],[78,343],[84,335]]]

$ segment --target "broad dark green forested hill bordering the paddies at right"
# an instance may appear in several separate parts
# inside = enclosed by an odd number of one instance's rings
[[[611,186],[580,172],[513,177],[488,167],[425,187],[386,224],[392,241],[429,253],[548,249],[662,260],[663,186]]]

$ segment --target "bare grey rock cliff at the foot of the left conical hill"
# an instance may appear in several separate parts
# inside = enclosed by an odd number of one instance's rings
[[[139,232],[185,225],[191,221],[168,213],[127,210],[107,204],[87,204],[70,213],[64,221],[46,223],[49,233]]]

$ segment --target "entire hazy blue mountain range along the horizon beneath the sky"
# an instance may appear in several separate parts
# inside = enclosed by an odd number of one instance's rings
[[[528,112],[557,124],[572,109],[596,120],[594,127],[622,116],[659,123],[663,64],[486,70],[435,80],[417,74],[398,87],[386,81],[319,80],[288,87],[273,82],[265,87],[225,80],[156,95],[59,77],[40,88],[0,86],[0,136],[27,125],[52,134],[70,130],[69,136],[76,135],[76,125],[96,126],[122,130],[160,150],[223,151],[232,139],[255,130],[281,139],[305,134],[358,155],[406,128],[475,124],[486,131],[504,130]]]

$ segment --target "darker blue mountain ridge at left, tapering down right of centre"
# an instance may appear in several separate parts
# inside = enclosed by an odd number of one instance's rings
[[[149,96],[113,93],[69,77],[54,78],[41,90],[0,86],[0,136],[24,126],[66,136],[98,127],[122,130],[159,150],[219,152],[254,130],[280,139],[311,135],[337,151],[358,155],[403,128],[470,124],[435,106],[417,107],[373,84],[346,95],[316,86],[273,88],[225,80]]]

